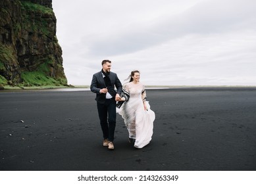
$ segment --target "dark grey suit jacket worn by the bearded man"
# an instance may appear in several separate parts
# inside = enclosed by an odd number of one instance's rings
[[[122,93],[122,83],[118,79],[117,75],[114,72],[110,72],[109,78],[111,80],[111,85],[113,87],[116,87],[115,95],[116,95],[116,93],[118,93],[120,95]],[[106,94],[99,93],[99,91],[105,87],[107,87],[107,86],[103,79],[102,73],[97,72],[96,74],[93,74],[90,89],[93,93],[96,93],[95,101],[97,101],[99,103],[105,103]]]

